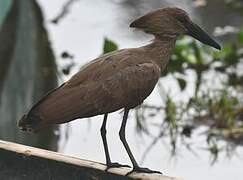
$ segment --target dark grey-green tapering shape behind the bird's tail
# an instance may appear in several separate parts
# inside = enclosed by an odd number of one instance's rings
[[[0,139],[57,150],[57,128],[29,136],[16,127],[21,115],[57,86],[40,9],[33,0],[12,1],[3,12],[8,13],[0,27]]]

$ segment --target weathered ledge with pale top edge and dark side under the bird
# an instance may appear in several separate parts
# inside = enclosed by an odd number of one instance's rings
[[[159,174],[126,174],[129,168],[112,168],[107,172],[101,163],[0,140],[0,179],[4,180],[76,180],[142,179],[178,180]]]

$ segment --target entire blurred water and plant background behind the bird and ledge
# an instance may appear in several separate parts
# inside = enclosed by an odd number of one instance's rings
[[[166,6],[186,10],[222,50],[179,38],[153,93],[130,114],[130,147],[140,164],[166,175],[241,180],[242,0],[0,0],[0,139],[105,162],[102,116],[34,135],[16,123],[85,63],[149,43],[129,24]],[[130,164],[118,136],[122,114],[109,116],[108,144],[113,161]]]

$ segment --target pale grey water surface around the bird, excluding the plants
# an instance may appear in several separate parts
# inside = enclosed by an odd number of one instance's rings
[[[243,23],[240,13],[226,8],[221,0],[208,2],[209,6],[206,8],[195,8],[194,3],[189,0],[80,0],[73,4],[68,16],[55,25],[50,21],[60,12],[65,0],[38,0],[38,2],[45,15],[45,25],[59,66],[63,63],[60,58],[63,51],[68,51],[75,57],[77,65],[72,70],[72,74],[81,65],[102,53],[104,37],[117,42],[119,48],[138,47],[148,43],[151,36],[129,29],[128,25],[136,17],[154,8],[172,4],[182,7],[190,13],[195,22],[201,24],[209,32],[213,31],[215,25],[225,26],[231,24],[240,26]],[[63,77],[60,81],[69,77]],[[171,87],[173,89],[173,84],[169,81],[164,83],[167,83],[168,89],[171,89]],[[176,90],[172,93],[177,94]],[[161,104],[156,89],[147,98],[146,102]],[[146,136],[141,137],[135,131],[133,116],[133,113],[131,113],[129,117],[127,139],[136,158],[141,161],[143,153],[152,139]],[[83,159],[105,162],[99,133],[102,118],[102,116],[97,116],[70,123],[67,139],[65,138],[66,125],[62,125],[59,151]],[[113,161],[130,164],[118,136],[121,118],[122,112],[109,115],[107,125],[108,143]],[[157,118],[158,121],[160,121],[159,118]],[[156,129],[153,131],[154,134],[158,133]],[[189,152],[185,147],[178,147],[177,156],[171,158],[168,139],[164,139],[157,143],[147,154],[143,166],[188,180],[241,180],[243,177],[243,149],[238,148],[238,155],[233,156],[230,160],[226,157],[226,154],[220,154],[218,162],[210,166],[210,154],[208,151],[203,150],[207,147],[204,136],[200,135],[203,131],[203,128],[199,129],[191,140],[196,154]]]

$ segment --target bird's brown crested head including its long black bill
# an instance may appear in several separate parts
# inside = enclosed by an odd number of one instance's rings
[[[204,44],[220,49],[220,45],[193,23],[184,10],[176,7],[152,11],[133,21],[130,27],[141,29],[159,38],[176,38],[178,35],[186,34]]]

